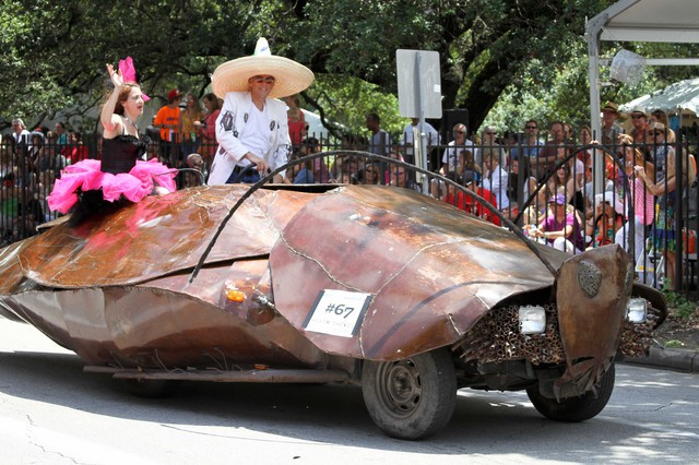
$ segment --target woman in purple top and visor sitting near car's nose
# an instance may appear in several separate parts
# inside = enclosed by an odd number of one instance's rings
[[[571,255],[584,250],[584,239],[578,217],[572,206],[567,206],[566,196],[561,193],[548,200],[548,213],[544,220],[537,227],[528,229],[531,237],[544,238],[548,246]]]

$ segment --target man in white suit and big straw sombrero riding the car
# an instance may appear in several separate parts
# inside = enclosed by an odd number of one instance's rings
[[[218,150],[209,184],[257,182],[260,175],[284,165],[291,150],[286,105],[276,98],[297,94],[313,82],[313,73],[300,63],[270,51],[261,37],[250,57],[216,68],[212,88],[224,99],[216,119]],[[257,170],[241,171],[250,164]],[[282,182],[284,172],[274,181]]]

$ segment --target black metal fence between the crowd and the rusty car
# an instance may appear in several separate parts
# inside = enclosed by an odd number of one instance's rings
[[[666,142],[667,135],[651,131],[628,144],[619,141],[583,144],[568,140],[534,144],[520,141],[508,145],[499,140],[473,143],[460,134],[448,134],[450,143],[428,141],[427,168],[435,174],[441,171],[448,179],[491,201],[505,217],[528,231],[552,214],[550,200],[560,194],[578,223],[580,241],[570,240],[578,249],[620,243],[633,254],[641,282],[670,286],[698,299],[699,199],[695,174],[699,146],[696,139],[688,140],[684,132],[678,132],[673,143]],[[325,151],[340,154],[309,160],[291,170],[287,177],[299,183],[377,183],[426,191],[497,223],[487,208],[477,206],[469,194],[450,190],[436,176],[416,176],[390,163],[368,163],[359,154],[366,151],[414,163],[419,150],[402,143],[403,140],[390,143],[384,139],[372,145],[370,139],[364,138],[311,139],[294,147],[292,157]],[[197,142],[152,142],[146,156],[180,168],[187,166],[187,155],[199,153],[210,167],[215,151],[213,145]],[[37,225],[58,216],[49,211],[46,201],[55,180],[69,164],[100,158],[100,138],[90,134],[59,144],[57,140],[34,134],[27,143],[15,144],[12,136],[5,135],[0,154],[3,180],[0,230],[2,243],[8,245],[35,235]],[[641,167],[648,182],[641,179]],[[187,188],[201,183],[201,178],[182,172],[177,181],[179,188]],[[542,240],[533,236],[532,240]]]

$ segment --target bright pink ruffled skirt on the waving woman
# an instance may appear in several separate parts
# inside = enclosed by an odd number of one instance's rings
[[[85,159],[66,167],[47,199],[48,206],[68,213],[78,203],[79,192],[97,189],[102,189],[102,195],[108,202],[114,202],[121,195],[131,202],[138,202],[149,195],[155,186],[175,192],[176,172],[168,171],[170,168],[154,158],[149,162],[138,160],[129,172],[112,175],[100,170],[98,159]]]

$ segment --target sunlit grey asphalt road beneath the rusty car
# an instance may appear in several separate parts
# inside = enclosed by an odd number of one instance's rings
[[[686,464],[699,462],[697,418],[699,375],[620,366],[590,421],[548,421],[522,393],[463,390],[445,431],[399,441],[357,386],[191,383],[142,400],[0,318],[2,464]]]

